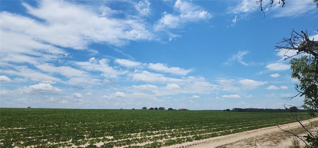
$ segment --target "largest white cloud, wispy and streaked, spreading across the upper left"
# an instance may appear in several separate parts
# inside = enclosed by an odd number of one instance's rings
[[[19,26],[34,38],[62,47],[85,49],[90,42],[118,46],[127,44],[129,40],[148,40],[151,37],[139,20],[100,16],[101,12],[96,11],[99,6],[96,5],[84,6],[65,1],[41,1],[38,7],[22,4],[29,14],[45,20],[45,24],[24,17],[27,24],[19,22],[12,27]]]

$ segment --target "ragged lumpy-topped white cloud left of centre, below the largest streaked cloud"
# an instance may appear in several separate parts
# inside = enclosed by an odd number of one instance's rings
[[[127,71],[117,71],[113,67],[108,65],[108,59],[95,59],[94,57],[90,58],[87,62],[75,62],[81,68],[87,71],[100,71],[103,72],[101,75],[110,78],[116,78],[119,75],[126,74]]]

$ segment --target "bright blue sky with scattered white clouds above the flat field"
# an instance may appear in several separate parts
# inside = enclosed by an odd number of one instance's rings
[[[1,1],[0,107],[190,110],[303,104],[285,52],[312,0]],[[293,53],[288,52],[288,55]]]

